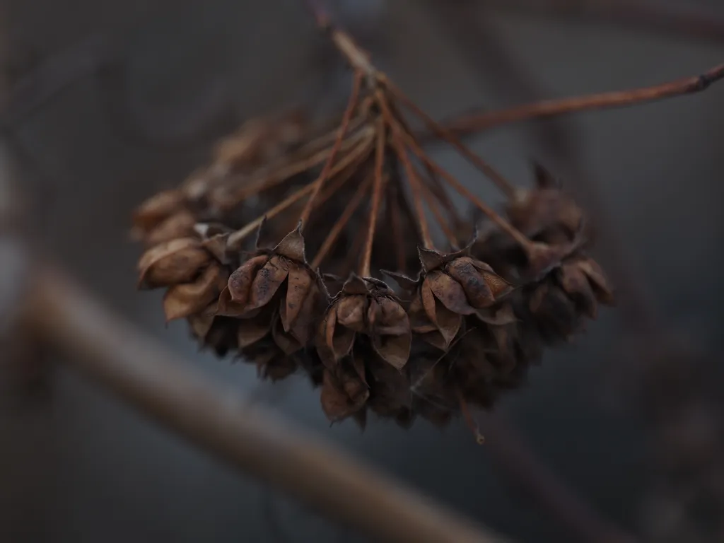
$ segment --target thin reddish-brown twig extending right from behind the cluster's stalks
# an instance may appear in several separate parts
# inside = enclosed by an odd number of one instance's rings
[[[653,87],[577,96],[560,100],[544,100],[534,104],[523,104],[508,109],[500,109],[499,111],[463,115],[444,124],[458,135],[466,135],[513,122],[556,117],[578,111],[633,106],[685,94],[699,93],[709,88],[712,83],[722,79],[724,79],[724,64],[713,67],[702,75],[686,77],[686,79],[662,83]]]

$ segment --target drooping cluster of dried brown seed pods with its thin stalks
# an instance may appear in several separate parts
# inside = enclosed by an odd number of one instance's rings
[[[429,158],[403,106],[494,177],[504,214]],[[357,70],[335,130],[252,122],[209,169],[140,206],[140,285],[166,288],[167,319],[218,355],[271,379],[306,371],[332,421],[446,424],[491,406],[612,302],[584,253],[584,214],[537,173],[516,190],[384,75]],[[450,189],[488,224],[462,216]]]

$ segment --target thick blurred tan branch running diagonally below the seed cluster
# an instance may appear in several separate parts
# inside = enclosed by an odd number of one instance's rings
[[[28,321],[75,366],[149,418],[241,471],[389,541],[494,542],[454,513],[283,426],[219,389],[172,353],[41,266]]]

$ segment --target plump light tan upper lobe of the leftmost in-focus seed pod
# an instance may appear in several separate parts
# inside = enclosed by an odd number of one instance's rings
[[[182,237],[148,249],[138,261],[140,287],[169,287],[193,280],[209,262],[198,240]]]

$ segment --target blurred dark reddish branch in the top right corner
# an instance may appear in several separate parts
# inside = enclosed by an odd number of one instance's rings
[[[724,41],[724,17],[701,7],[666,5],[652,0],[484,0],[500,11],[604,22],[635,30],[702,41]],[[683,3],[682,3],[683,4]]]

